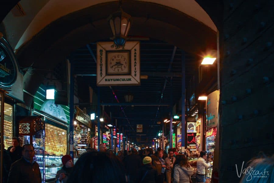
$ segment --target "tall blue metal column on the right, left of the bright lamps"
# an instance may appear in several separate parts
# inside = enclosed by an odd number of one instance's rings
[[[181,126],[182,126],[182,134],[181,134],[181,152],[184,153],[185,149],[185,54],[182,50],[182,118],[181,118]]]

